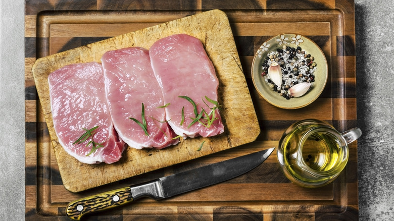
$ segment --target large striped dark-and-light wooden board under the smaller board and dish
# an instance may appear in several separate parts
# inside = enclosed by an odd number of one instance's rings
[[[212,9],[224,11],[230,21],[261,128],[257,140],[80,193],[66,190],[31,72],[36,59]],[[66,206],[75,199],[277,146],[284,129],[298,120],[317,118],[339,131],[357,126],[354,26],[353,0],[26,1],[26,220],[67,220]],[[283,30],[311,38],[328,61],[325,90],[311,105],[298,110],[267,103],[254,89],[250,74],[261,43]],[[109,219],[357,220],[357,142],[350,145],[346,170],[322,188],[290,183],[273,152],[258,168],[233,180],[167,200],[141,199],[85,220]]]

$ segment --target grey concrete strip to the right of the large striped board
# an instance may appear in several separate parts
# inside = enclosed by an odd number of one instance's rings
[[[360,220],[394,220],[393,7],[356,0]]]

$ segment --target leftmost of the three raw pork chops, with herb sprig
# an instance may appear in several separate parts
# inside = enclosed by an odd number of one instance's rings
[[[68,65],[51,73],[48,81],[55,132],[66,152],[89,164],[118,161],[125,144],[111,121],[102,66],[95,62]],[[73,144],[84,129],[94,127],[92,137]],[[98,147],[93,152],[90,141]]]

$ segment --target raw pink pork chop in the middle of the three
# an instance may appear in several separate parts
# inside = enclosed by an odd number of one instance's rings
[[[164,148],[179,142],[165,120],[163,95],[151,67],[149,51],[129,47],[107,51],[102,57],[105,87],[112,121],[130,146]],[[143,125],[142,103],[146,134]]]

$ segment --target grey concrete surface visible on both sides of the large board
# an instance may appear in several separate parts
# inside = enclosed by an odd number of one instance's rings
[[[394,219],[394,1],[356,0],[360,220]],[[24,1],[0,3],[0,219],[25,219]]]

